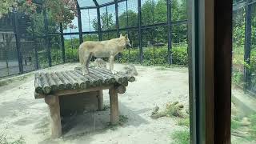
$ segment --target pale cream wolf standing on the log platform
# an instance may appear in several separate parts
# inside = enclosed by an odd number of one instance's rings
[[[110,70],[112,74],[114,71],[114,56],[122,52],[126,46],[130,45],[128,34],[119,38],[113,38],[101,42],[86,41],[82,42],[78,49],[79,62],[82,66],[82,74],[89,74],[89,64],[92,56],[96,58],[109,58]]]

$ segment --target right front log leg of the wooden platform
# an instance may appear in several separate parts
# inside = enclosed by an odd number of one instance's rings
[[[110,122],[112,125],[118,124],[119,114],[118,114],[118,92],[114,86],[110,87]]]

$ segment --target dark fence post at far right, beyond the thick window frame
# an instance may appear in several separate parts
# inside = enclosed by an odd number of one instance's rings
[[[244,62],[247,66],[244,66],[244,89],[249,90],[251,86],[250,81],[250,50],[251,50],[251,0],[246,0],[246,32],[245,32],[245,54]]]

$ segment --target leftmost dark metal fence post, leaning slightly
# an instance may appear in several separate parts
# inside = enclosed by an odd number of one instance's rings
[[[20,42],[20,35],[18,32],[18,12],[14,9],[13,16],[14,16],[14,34],[16,39],[16,48],[17,48],[17,56],[18,56],[18,69],[20,74],[23,74],[23,65],[22,65],[22,53],[21,53],[21,42]]]

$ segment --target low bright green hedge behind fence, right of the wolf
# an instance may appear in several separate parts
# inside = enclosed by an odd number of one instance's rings
[[[155,48],[147,47],[143,49],[143,64],[146,66],[151,65],[167,65],[168,64],[168,50],[167,47],[164,46],[162,48]],[[130,57],[129,57],[130,56]],[[188,63],[187,59],[187,47],[184,46],[175,46],[172,49],[172,57],[173,57],[173,64],[175,65],[183,65],[186,66]],[[130,58],[130,59],[129,59]],[[139,50],[137,49],[130,49],[125,50],[122,52],[122,58],[120,62],[127,63],[139,63]]]

